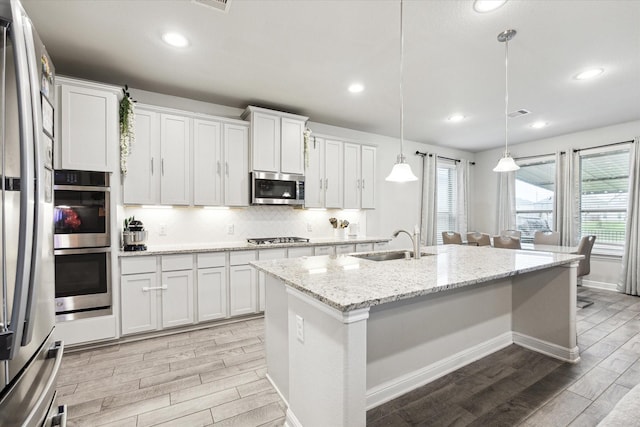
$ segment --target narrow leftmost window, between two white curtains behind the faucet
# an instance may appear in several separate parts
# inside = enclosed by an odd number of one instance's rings
[[[438,160],[437,241],[442,244],[443,231],[458,230],[457,174],[455,162]]]

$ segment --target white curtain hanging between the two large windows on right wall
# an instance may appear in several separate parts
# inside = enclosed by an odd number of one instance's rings
[[[554,201],[554,228],[560,233],[560,244],[578,244],[580,224],[580,153],[567,150],[556,153],[556,195]]]

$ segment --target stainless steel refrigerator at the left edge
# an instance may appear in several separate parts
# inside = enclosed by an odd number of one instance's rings
[[[64,424],[54,407],[54,68],[18,0],[0,0],[0,426]],[[62,409],[62,408],[60,408]]]

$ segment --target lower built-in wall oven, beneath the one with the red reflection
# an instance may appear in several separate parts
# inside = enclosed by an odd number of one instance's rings
[[[111,248],[56,249],[56,319],[111,314]]]

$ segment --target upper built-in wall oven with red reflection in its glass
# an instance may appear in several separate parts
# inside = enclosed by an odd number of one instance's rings
[[[55,249],[111,245],[109,192],[106,172],[55,171]]]

